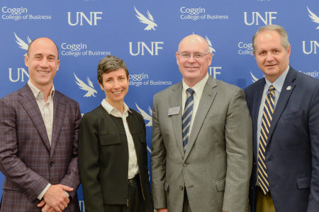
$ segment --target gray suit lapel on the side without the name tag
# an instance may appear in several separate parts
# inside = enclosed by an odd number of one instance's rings
[[[189,143],[187,144],[187,150],[185,153],[184,160],[186,160],[187,156],[191,152],[191,148],[194,146],[194,143],[196,141],[199,131],[201,130],[201,126],[203,125],[203,121],[206,118],[208,110],[210,110],[211,105],[213,104],[213,100],[217,93],[216,89],[213,88],[215,88],[216,86],[216,80],[209,76],[206,85],[203,89],[201,100],[199,101],[193,126],[191,127],[191,136],[189,136]]]

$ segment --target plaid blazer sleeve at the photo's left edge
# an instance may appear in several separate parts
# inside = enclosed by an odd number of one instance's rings
[[[49,182],[18,158],[16,118],[14,107],[0,99],[0,171],[33,203]]]

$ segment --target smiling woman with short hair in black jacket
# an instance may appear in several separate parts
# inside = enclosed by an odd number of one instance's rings
[[[125,62],[104,57],[98,80],[106,99],[84,114],[79,129],[85,210],[152,212],[145,122],[124,102],[129,80]]]

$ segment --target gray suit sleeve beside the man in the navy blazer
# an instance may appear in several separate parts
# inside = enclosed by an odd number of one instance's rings
[[[227,172],[223,211],[244,212],[252,172],[252,120],[242,89],[230,100],[225,123]]]

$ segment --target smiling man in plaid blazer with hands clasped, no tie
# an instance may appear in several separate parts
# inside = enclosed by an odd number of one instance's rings
[[[55,90],[57,45],[30,43],[26,86],[0,99],[0,211],[79,211],[79,104]]]

